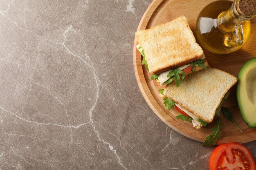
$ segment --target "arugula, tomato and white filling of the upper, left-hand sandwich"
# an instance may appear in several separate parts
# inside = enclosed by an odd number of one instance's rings
[[[142,47],[139,44],[136,47],[139,50],[139,52],[141,53],[141,55],[143,56],[142,64],[145,64],[145,67],[148,69],[148,64],[147,64],[146,59],[145,59],[144,49],[142,49]],[[185,73],[183,71],[186,68],[188,68],[188,67],[191,67],[191,66],[202,66],[204,69],[206,69],[206,66],[204,65],[203,59],[205,59],[205,55],[203,55],[202,59],[200,59],[200,60],[197,60],[197,61],[192,62],[190,64],[186,64],[184,66],[180,66],[180,67],[175,68],[173,70],[165,71],[165,72],[163,72],[163,73],[161,73],[159,75],[152,75],[150,78],[151,79],[157,79],[157,81],[161,85],[162,84],[169,84],[169,83],[171,83],[173,81],[173,78],[175,78],[175,80],[176,80],[177,77],[179,77],[179,76],[176,76],[175,73],[177,75],[181,75],[181,78],[184,79]],[[192,67],[191,67],[191,69],[193,71]],[[191,69],[189,69],[189,71]],[[176,82],[176,85],[177,85],[177,82]],[[179,85],[177,85],[177,86],[179,86]]]

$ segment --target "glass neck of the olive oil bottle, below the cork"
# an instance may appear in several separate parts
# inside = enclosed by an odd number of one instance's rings
[[[217,25],[223,32],[233,32],[235,25],[241,25],[244,21],[251,20],[255,15],[245,16],[239,9],[240,0],[235,0],[232,6],[222,13],[217,18]]]

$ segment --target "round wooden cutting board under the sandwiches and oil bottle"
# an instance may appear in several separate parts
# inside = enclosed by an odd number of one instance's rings
[[[138,29],[149,29],[153,26],[163,24],[174,20],[180,15],[186,16],[189,26],[195,35],[196,18],[200,11],[213,0],[154,0],[146,12],[144,13]],[[232,75],[237,76],[241,66],[252,57],[256,57],[256,18],[251,20],[252,32],[246,44],[238,51],[227,54],[218,55],[210,53],[203,48],[204,54],[207,57],[209,65],[213,68],[219,68]],[[196,35],[195,35],[196,38]],[[144,66],[141,65],[141,54],[136,49],[137,40],[135,39],[133,47],[133,64],[135,75],[140,88],[140,91],[150,108],[165,124],[180,134],[194,139],[196,141],[204,141],[204,138],[212,133],[210,128],[215,126],[213,123],[202,127],[200,130],[193,128],[193,125],[188,121],[176,119],[175,115],[179,115],[173,108],[168,110],[164,108],[163,99],[159,96],[158,89],[164,88],[155,80],[150,79],[150,73]],[[230,121],[228,121],[221,113],[221,138],[217,144],[229,142],[245,143],[256,139],[256,128],[249,128],[243,121],[238,104],[236,101],[236,86],[231,88],[231,95],[223,103],[234,115],[234,120],[243,130],[241,133]]]

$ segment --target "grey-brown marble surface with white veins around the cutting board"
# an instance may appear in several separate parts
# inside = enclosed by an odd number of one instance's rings
[[[215,147],[168,128],[137,86],[151,1],[0,1],[0,170],[208,169]]]

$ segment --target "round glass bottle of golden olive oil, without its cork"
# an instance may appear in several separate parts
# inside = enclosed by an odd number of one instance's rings
[[[200,44],[212,53],[227,54],[247,41],[252,19],[239,10],[240,0],[218,0],[208,4],[197,18],[196,34]]]

